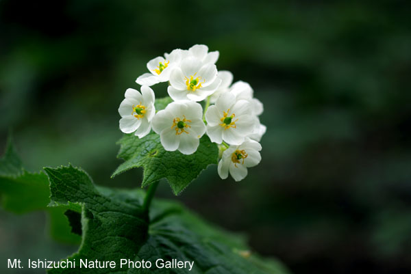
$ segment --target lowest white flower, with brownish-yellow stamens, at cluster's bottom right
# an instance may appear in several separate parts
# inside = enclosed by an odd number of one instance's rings
[[[260,143],[248,138],[240,146],[230,146],[223,152],[219,162],[219,176],[225,179],[229,173],[236,182],[244,179],[247,176],[247,167],[260,163],[260,150]]]

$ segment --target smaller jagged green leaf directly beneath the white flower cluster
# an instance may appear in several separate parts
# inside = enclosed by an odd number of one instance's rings
[[[162,109],[170,101],[168,97],[157,99],[156,107]],[[153,132],[142,139],[133,134],[124,135],[118,143],[121,148],[117,157],[125,162],[112,177],[135,167],[143,167],[142,187],[166,178],[175,195],[183,191],[208,165],[216,164],[219,158],[219,149],[206,135],[201,137],[199,148],[191,155],[164,150],[160,135]]]

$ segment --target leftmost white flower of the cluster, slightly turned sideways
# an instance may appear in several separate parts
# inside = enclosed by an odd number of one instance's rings
[[[120,129],[123,133],[134,133],[138,138],[145,137],[151,130],[151,120],[155,115],[154,92],[143,85],[141,94],[129,88],[125,91],[125,99],[121,102]]]

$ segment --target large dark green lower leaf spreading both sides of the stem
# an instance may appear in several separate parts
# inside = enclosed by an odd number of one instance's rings
[[[244,238],[214,228],[175,202],[153,200],[150,213],[140,206],[141,190],[96,188],[81,169],[45,169],[55,206],[82,206],[83,241],[69,260],[76,269],[52,269],[51,274],[71,273],[287,273],[276,260],[263,260],[249,250]],[[80,259],[114,261],[114,269],[79,268]],[[120,267],[121,259],[149,260],[151,269]],[[188,269],[159,269],[158,259],[194,261]]]

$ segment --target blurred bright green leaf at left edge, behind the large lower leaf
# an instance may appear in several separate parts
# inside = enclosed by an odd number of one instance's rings
[[[27,172],[16,153],[11,138],[0,159],[1,206],[12,213],[24,214],[35,210],[49,213],[50,234],[64,243],[79,243],[80,237],[71,233],[63,208],[49,208],[49,180],[46,174]]]

